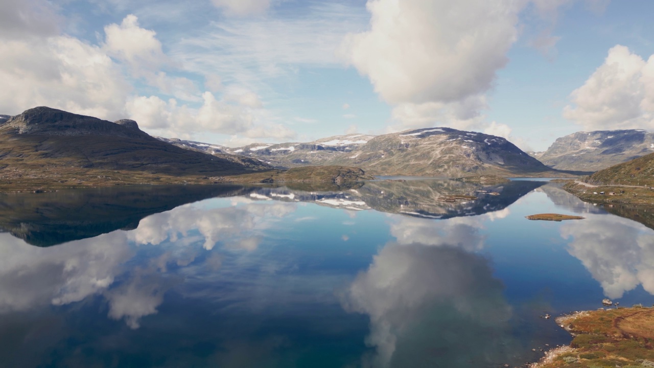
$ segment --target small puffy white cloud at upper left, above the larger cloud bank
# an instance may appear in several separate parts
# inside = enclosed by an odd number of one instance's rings
[[[167,61],[156,32],[139,27],[139,20],[133,14],[126,16],[120,26],[106,26],[105,35],[103,49],[107,54],[127,62],[139,76],[152,73]]]

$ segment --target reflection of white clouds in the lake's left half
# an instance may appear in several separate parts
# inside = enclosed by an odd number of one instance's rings
[[[224,244],[221,251],[253,251],[262,231],[296,210],[292,203],[262,205],[243,198],[235,198],[232,204],[239,206],[187,204],[150,215],[135,230],[51,248],[37,248],[8,233],[0,234],[0,313],[46,304],[61,306],[102,295],[110,318],[124,319],[129,327],[138,328],[141,318],[155,314],[165,292],[177,282],[179,276],[167,274],[169,265],[188,267],[201,251],[210,251],[219,242]],[[146,259],[145,266],[130,264],[152,246],[157,257]],[[220,267],[218,255],[203,261],[213,271]]]

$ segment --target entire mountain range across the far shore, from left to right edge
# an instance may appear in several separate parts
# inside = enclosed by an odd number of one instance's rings
[[[152,137],[134,120],[110,122],[49,107],[0,115],[3,185],[27,178],[97,186],[126,183],[126,178],[131,183],[219,183],[324,177],[342,182],[368,174],[562,177],[590,174],[651,151],[654,134],[644,130],[578,132],[528,155],[507,139],[453,128],[230,148]],[[105,183],[109,177],[117,182]]]

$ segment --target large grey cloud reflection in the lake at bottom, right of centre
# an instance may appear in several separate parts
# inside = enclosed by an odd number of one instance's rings
[[[433,366],[485,366],[512,354],[502,289],[485,259],[456,246],[391,243],[356,276],[342,304],[370,316],[366,344],[376,352],[364,367],[424,366],[426,351],[439,352],[430,356]]]

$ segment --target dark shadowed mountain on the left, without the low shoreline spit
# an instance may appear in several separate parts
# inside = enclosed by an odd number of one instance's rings
[[[138,170],[169,175],[224,175],[266,170],[258,160],[206,155],[141,131],[133,120],[110,122],[35,107],[0,124],[0,168],[26,174],[69,168]]]

